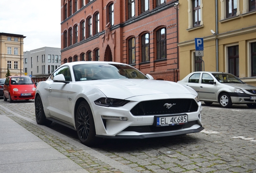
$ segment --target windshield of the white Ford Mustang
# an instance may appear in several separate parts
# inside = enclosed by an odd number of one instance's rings
[[[76,81],[136,78],[148,79],[140,71],[123,64],[78,64],[73,66]]]

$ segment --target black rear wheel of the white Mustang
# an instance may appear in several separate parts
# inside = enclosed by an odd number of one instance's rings
[[[52,121],[47,120],[43,111],[43,103],[41,97],[37,96],[35,99],[35,119],[39,125],[50,125]]]

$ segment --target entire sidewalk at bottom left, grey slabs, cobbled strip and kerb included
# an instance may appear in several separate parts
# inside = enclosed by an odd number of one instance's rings
[[[0,173],[53,172],[138,173],[0,105]]]

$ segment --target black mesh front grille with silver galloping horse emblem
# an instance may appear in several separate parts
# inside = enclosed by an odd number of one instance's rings
[[[168,109],[164,106],[165,103],[173,104],[173,106]],[[189,113],[197,110],[198,104],[194,99],[164,99],[140,102],[130,112],[134,116],[142,116]]]

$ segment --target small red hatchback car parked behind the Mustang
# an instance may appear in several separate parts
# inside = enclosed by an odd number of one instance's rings
[[[4,82],[4,101],[35,99],[35,82],[29,76],[8,76]]]

